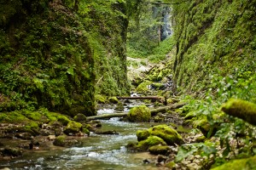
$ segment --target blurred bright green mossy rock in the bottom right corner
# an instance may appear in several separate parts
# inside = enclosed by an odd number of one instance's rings
[[[255,170],[256,169],[256,156],[249,157],[246,159],[234,160],[219,167],[214,167],[212,170]]]

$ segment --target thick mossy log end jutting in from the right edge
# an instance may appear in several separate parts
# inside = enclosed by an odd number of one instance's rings
[[[241,118],[256,126],[256,105],[251,102],[242,99],[230,99],[222,105],[221,111],[224,111],[230,116]]]

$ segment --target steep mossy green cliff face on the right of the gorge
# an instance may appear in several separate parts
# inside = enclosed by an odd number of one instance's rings
[[[173,17],[177,90],[216,94],[239,79],[255,80],[255,0],[192,0],[173,5]]]

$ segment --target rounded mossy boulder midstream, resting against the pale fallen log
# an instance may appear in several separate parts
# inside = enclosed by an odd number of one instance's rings
[[[151,113],[146,105],[140,105],[132,108],[127,117],[130,122],[149,122]]]

